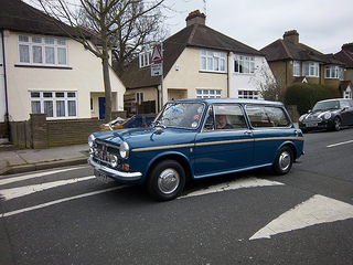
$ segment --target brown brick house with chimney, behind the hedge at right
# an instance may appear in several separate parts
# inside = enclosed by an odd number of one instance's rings
[[[301,81],[339,88],[344,81],[345,63],[333,54],[322,54],[300,43],[296,30],[285,32],[284,39],[272,42],[260,52],[266,54],[277,82],[286,87]]]

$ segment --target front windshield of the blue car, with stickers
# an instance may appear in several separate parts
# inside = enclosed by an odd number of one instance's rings
[[[168,103],[153,126],[196,129],[204,110],[202,103]]]

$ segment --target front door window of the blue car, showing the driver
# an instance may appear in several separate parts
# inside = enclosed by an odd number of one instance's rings
[[[247,128],[247,125],[239,105],[216,104],[210,107],[204,125],[205,130],[242,128]]]

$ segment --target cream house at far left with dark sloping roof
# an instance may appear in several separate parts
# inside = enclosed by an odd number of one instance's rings
[[[0,1],[0,123],[39,113],[46,120],[103,118],[100,59],[45,17],[21,0]],[[125,86],[113,70],[110,82],[113,110],[124,110]]]

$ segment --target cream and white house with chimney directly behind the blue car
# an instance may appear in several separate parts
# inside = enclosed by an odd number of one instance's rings
[[[199,10],[191,12],[186,26],[163,41],[163,80],[151,76],[151,49],[132,61],[121,76],[128,113],[143,112],[146,102],[153,102],[158,112],[171,99],[261,98],[253,80],[260,68],[270,71],[265,55],[208,28],[205,19]]]

